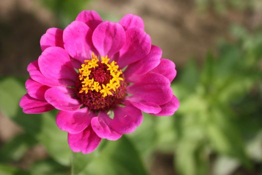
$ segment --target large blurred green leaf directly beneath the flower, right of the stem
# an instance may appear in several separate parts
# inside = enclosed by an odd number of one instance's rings
[[[100,151],[96,150],[91,154],[86,154],[85,156],[90,156],[92,158],[84,158],[81,156],[80,160],[86,160],[87,165],[84,169],[76,169],[73,166],[73,174],[147,174],[147,171],[139,157],[139,153],[135,149],[134,145],[130,140],[122,136],[121,139],[117,141],[107,141],[105,147]],[[73,161],[79,161],[76,157]],[[76,164],[76,163],[73,163]],[[82,163],[83,165],[83,163]],[[81,165],[81,167],[83,167]],[[77,173],[80,172],[80,173]]]

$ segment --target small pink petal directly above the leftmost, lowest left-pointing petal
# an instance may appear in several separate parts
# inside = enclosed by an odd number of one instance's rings
[[[28,78],[25,81],[25,88],[31,97],[36,99],[44,99],[44,93],[49,86],[36,82],[32,78]]]

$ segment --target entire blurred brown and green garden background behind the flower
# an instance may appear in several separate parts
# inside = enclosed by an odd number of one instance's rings
[[[57,111],[18,106],[41,35],[83,9],[140,15],[176,63],[181,104],[85,155],[69,149]],[[0,174],[262,174],[262,0],[0,0]]]

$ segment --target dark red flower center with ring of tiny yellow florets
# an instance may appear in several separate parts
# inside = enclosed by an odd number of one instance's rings
[[[126,82],[117,63],[107,56],[101,59],[93,53],[91,60],[85,60],[75,82],[77,96],[91,110],[108,110],[126,95]]]

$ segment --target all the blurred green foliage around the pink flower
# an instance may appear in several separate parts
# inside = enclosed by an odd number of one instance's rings
[[[40,0],[61,26],[86,8],[87,0]],[[244,9],[258,0],[196,0],[222,11]],[[24,114],[18,106],[25,79],[0,79],[0,111],[24,132],[0,145],[0,174],[148,174],[155,153],[174,157],[182,175],[226,175],[242,167],[262,173],[262,30],[234,26],[232,42],[221,40],[204,64],[191,59],[172,84],[181,106],[174,116],[144,114],[135,132],[117,141],[103,140],[91,154],[73,153],[67,135],[55,124],[56,110]],[[48,156],[22,168],[19,163],[35,145]],[[255,173],[254,173],[255,174]]]

